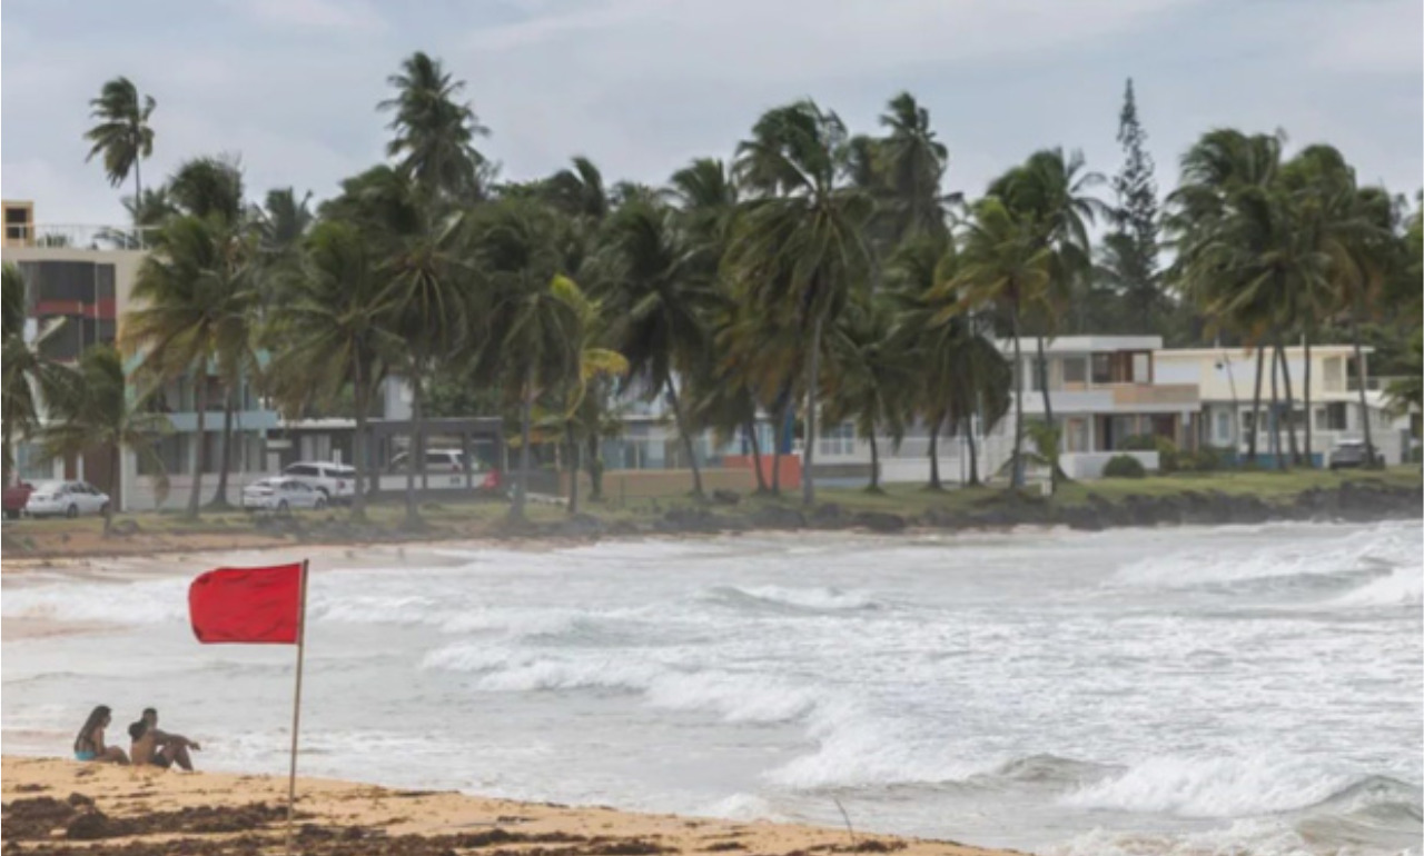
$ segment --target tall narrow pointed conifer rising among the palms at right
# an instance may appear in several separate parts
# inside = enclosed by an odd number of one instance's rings
[[[1114,249],[1109,260],[1111,279],[1125,304],[1126,323],[1135,333],[1149,333],[1158,326],[1158,310],[1162,306],[1158,277],[1158,199],[1152,155],[1143,148],[1148,135],[1138,122],[1132,78],[1128,78],[1118,122],[1124,162],[1112,179],[1116,210],[1114,235],[1108,240]]]

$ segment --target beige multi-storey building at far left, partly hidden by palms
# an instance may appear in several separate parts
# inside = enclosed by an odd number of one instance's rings
[[[51,360],[71,363],[88,347],[117,344],[122,338],[122,319],[132,306],[132,287],[147,250],[142,236],[127,226],[74,226],[36,223],[30,202],[6,200],[4,240],[0,259],[13,263],[26,282],[27,330],[31,340],[46,333],[41,353]],[[132,360],[137,363],[137,360]],[[172,432],[157,442],[158,458],[169,485],[169,503],[187,496],[195,466],[216,474],[222,466],[222,412],[226,394],[211,374],[205,427],[199,441],[195,378],[168,382],[152,407],[168,415]],[[256,398],[249,384],[236,392],[234,412],[234,471],[228,501],[235,502],[242,474],[263,469],[263,438],[276,425],[276,414]],[[71,461],[46,461],[36,444],[16,449],[20,478],[83,478],[104,488],[122,510],[151,509],[157,505],[158,469],[140,462],[132,449],[120,455],[120,474],[110,474],[110,455],[94,449]],[[209,476],[208,485],[216,479]],[[211,488],[205,488],[211,489]]]

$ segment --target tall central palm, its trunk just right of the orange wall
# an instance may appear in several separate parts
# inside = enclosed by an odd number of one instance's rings
[[[729,266],[739,299],[768,314],[786,313],[805,336],[806,506],[816,501],[823,333],[869,267],[862,230],[874,202],[846,181],[847,142],[840,117],[799,101],[762,115],[752,139],[738,146],[740,183],[756,196],[743,203]]]

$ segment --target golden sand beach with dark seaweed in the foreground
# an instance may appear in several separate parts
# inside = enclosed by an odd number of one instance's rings
[[[286,779],[6,756],[4,852],[281,853]],[[302,779],[298,850],[360,856],[887,853],[993,856],[954,842],[735,823]]]

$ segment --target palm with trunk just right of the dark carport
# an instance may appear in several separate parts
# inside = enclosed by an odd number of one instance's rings
[[[498,378],[520,408],[513,520],[524,519],[528,499],[534,404],[580,375],[581,294],[560,273],[560,229],[553,210],[517,196],[477,210],[470,230],[477,276],[490,299],[488,326],[497,331],[481,350],[483,373]]]

